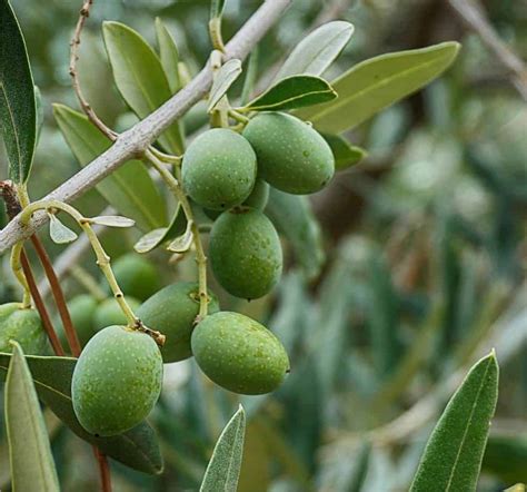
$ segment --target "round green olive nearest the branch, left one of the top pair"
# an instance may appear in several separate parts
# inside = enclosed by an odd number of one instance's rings
[[[213,128],[189,145],[182,163],[183,188],[205,208],[227,210],[252,191],[256,155],[236,131]]]

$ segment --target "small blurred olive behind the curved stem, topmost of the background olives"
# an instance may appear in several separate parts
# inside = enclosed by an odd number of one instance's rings
[[[159,291],[159,273],[145,257],[136,253],[120,256],[112,264],[119,287],[125,295],[145,301]],[[107,292],[108,292],[108,287]]]

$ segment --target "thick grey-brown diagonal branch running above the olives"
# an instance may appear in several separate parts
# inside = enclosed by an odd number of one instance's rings
[[[264,35],[278,21],[292,0],[267,0],[227,43],[225,60],[245,59]],[[198,76],[178,94],[143,120],[119,135],[108,150],[83,167],[79,173],[51,191],[43,200],[71,201],[131,158],[142,157],[146,149],[170,124],[180,118],[202,99],[212,85],[212,72],[206,66]],[[0,253],[21,239],[28,238],[48,220],[46,211],[34,214],[27,226],[16,217],[0,232]]]

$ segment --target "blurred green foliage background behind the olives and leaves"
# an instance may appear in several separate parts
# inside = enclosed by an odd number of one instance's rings
[[[227,0],[227,39],[259,3]],[[527,2],[484,3],[499,36],[527,59]],[[77,108],[68,61],[81,2],[12,4],[43,99],[30,181],[37,199],[79,169],[51,104]],[[210,51],[208,13],[205,0],[96,1],[79,72],[88,100],[109,126],[121,130],[136,117],[113,87],[102,20],[125,22],[153,45],[153,19],[161,17],[195,73]],[[306,32],[336,17],[356,30],[326,73],[329,80],[387,51],[444,40],[461,41],[463,50],[439,80],[349,135],[369,157],[312,197],[314,216],[301,216],[311,240],[285,240],[287,268],[272,295],[249,304],[215,286],[223,308],[265,322],[281,338],[291,358],[287,382],[272,395],[239,398],[212,386],[192,361],[166,366],[166,387],[151,415],[165,472],[152,478],[112,462],[116,491],[198,490],[213,443],[239,401],[249,415],[240,491],[406,490],[459,375],[493,346],[500,393],[479,488],[527,482],[526,101],[478,37],[447,2],[436,0],[297,0],[260,45],[261,87]],[[189,132],[200,122],[202,108],[186,117]],[[0,152],[0,177],[6,176]],[[95,190],[76,205],[86,215],[106,206]],[[268,211],[272,217],[276,207]],[[46,230],[41,237],[53,257],[64,249]],[[138,237],[137,230],[110,232],[102,240],[118,257]],[[99,278],[91,258],[88,252],[80,263]],[[0,257],[0,302],[19,295],[8,259]],[[193,278],[191,258],[168,267],[167,253],[149,259],[163,284]],[[74,275],[63,283],[69,297],[83,292]],[[96,490],[90,446],[49,421],[63,490]],[[7,490],[1,432],[0,488]]]

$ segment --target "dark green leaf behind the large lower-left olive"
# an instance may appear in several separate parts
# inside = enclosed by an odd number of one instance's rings
[[[0,353],[0,381],[6,378],[10,360],[11,354]],[[96,437],[82,429],[71,403],[76,358],[27,355],[26,362],[39,398],[79,437],[127,466],[149,474],[161,473],[163,465],[157,436],[147,422],[112,437]]]

